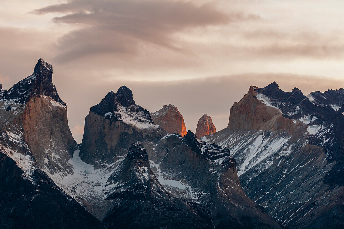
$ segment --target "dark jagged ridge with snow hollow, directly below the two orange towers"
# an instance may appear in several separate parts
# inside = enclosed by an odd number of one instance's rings
[[[280,228],[243,192],[229,150],[207,145],[189,131],[165,136],[154,152],[152,168],[163,187],[205,206],[215,228]]]

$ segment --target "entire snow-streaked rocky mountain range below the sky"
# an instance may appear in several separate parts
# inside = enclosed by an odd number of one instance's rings
[[[1,228],[344,226],[344,89],[251,86],[227,128],[204,114],[194,134],[177,107],[150,113],[122,86],[77,144],[52,75],[39,59],[0,90]]]

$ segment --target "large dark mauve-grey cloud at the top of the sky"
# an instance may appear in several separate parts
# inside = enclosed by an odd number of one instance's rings
[[[78,27],[58,42],[60,61],[98,53],[133,55],[147,45],[192,52],[176,33],[260,19],[255,14],[221,12],[213,3],[166,0],[69,0],[34,13],[64,13],[53,21]]]

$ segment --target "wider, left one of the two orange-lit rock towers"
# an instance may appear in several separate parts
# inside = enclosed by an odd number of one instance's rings
[[[167,133],[186,135],[184,118],[177,107],[164,105],[159,111],[151,113],[151,117],[154,124],[161,126]]]

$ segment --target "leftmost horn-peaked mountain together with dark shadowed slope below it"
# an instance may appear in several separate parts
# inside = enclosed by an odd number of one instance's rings
[[[51,65],[39,59],[31,76],[0,91],[1,226],[103,228],[43,172],[72,175],[77,148],[51,80]]]

